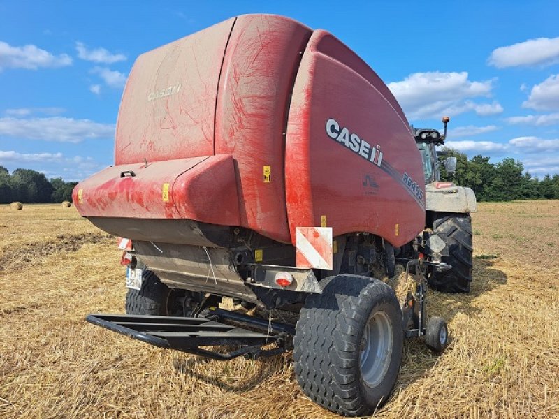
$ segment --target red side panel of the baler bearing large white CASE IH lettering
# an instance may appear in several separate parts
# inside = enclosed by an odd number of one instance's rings
[[[419,182],[414,191],[405,174]],[[298,226],[326,223],[334,235],[363,231],[400,246],[425,223],[407,119],[378,76],[325,31],[310,38],[293,89],[286,193],[292,238]]]

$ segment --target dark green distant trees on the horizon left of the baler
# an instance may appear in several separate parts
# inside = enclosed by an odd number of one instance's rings
[[[78,182],[64,182],[61,177],[47,179],[43,173],[16,169],[11,174],[0,166],[0,203],[72,202],[72,191]]]

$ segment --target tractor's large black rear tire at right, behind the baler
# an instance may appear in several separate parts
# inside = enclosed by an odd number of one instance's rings
[[[433,221],[433,231],[447,235],[449,256],[441,261],[452,266],[450,270],[433,270],[428,277],[429,286],[443,293],[469,293],[472,282],[472,219],[465,214],[445,214]]]

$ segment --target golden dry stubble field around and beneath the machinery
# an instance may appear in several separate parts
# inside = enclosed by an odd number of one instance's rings
[[[558,237],[557,200],[479,205],[472,293],[429,295],[451,345],[407,343],[375,417],[559,418]],[[300,392],[291,353],[207,361],[85,323],[123,310],[115,247],[73,207],[0,206],[1,418],[336,417]]]

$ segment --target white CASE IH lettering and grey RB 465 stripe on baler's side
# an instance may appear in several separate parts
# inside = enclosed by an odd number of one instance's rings
[[[340,124],[333,118],[329,118],[326,121],[326,134],[328,134],[328,137],[335,140],[338,144],[344,145],[351,152],[358,154],[358,156],[363,157],[363,159],[370,161],[370,163],[373,163],[375,166],[381,168],[383,172],[386,172],[387,175],[402,185],[407,193],[414,198],[415,202],[421,208],[425,209],[425,203],[423,203],[423,193],[421,192],[421,189],[419,189],[419,186],[417,186],[416,182],[408,184],[408,179],[411,180],[411,177],[409,177],[407,173],[402,175],[398,172],[398,170],[393,168],[390,163],[382,160],[380,145],[371,147],[367,141],[359,138],[356,133],[350,133],[349,130],[344,127],[340,128]]]

